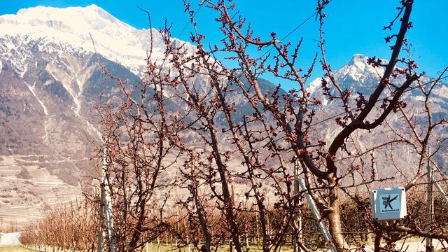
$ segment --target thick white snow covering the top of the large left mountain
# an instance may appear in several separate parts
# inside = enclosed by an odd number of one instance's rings
[[[84,53],[94,52],[96,48],[99,54],[140,75],[145,66],[150,33],[148,29],[135,29],[121,22],[93,4],[69,8],[37,6],[21,9],[13,15],[0,15],[0,36],[10,38],[5,43],[10,53],[20,46],[15,43],[20,38],[41,41],[42,48],[48,43]],[[153,38],[153,56],[161,59],[163,41],[155,29]]]

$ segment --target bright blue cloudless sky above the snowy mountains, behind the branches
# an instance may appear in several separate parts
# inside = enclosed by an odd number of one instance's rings
[[[279,38],[288,34],[300,22],[316,9],[314,0],[235,0],[237,10],[251,22],[254,34],[268,38],[271,31],[276,31]],[[199,1],[193,0],[193,8],[197,9]],[[0,14],[16,13],[20,8],[31,6],[87,6],[92,3],[104,8],[136,28],[147,28],[146,15],[137,6],[151,12],[153,27],[162,27],[167,18],[173,23],[172,34],[182,40],[189,40],[191,26],[182,34],[183,27],[188,23],[188,15],[183,13],[181,0],[18,0],[2,1]],[[281,3],[281,4],[280,4]],[[351,56],[360,53],[367,56],[377,56],[388,59],[390,52],[384,43],[384,37],[389,33],[381,31],[390,22],[398,6],[398,0],[356,1],[332,0],[326,9],[328,18],[325,19],[325,40],[327,59],[333,69],[349,62]],[[448,1],[444,0],[415,0],[411,20],[414,28],[408,32],[410,43],[414,45],[414,59],[419,63],[420,70],[430,76],[436,76],[444,66],[448,65]],[[221,33],[214,21],[216,13],[208,8],[201,8],[197,13],[200,30],[207,36],[209,43],[219,43]],[[318,23],[311,19],[304,26],[288,36],[286,41],[297,42],[303,38],[300,66],[307,69],[314,53],[318,50]],[[263,51],[264,52],[264,51]],[[321,75],[320,67],[316,68],[314,77]],[[289,89],[290,83],[275,80],[272,76],[265,76],[273,83],[281,83]],[[313,78],[314,79],[314,78]]]

